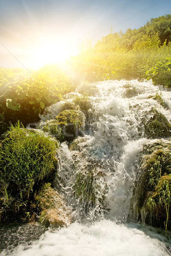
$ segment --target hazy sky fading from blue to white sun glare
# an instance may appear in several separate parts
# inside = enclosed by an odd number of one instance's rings
[[[0,0],[0,67],[39,68],[83,41],[171,14],[171,0]]]

